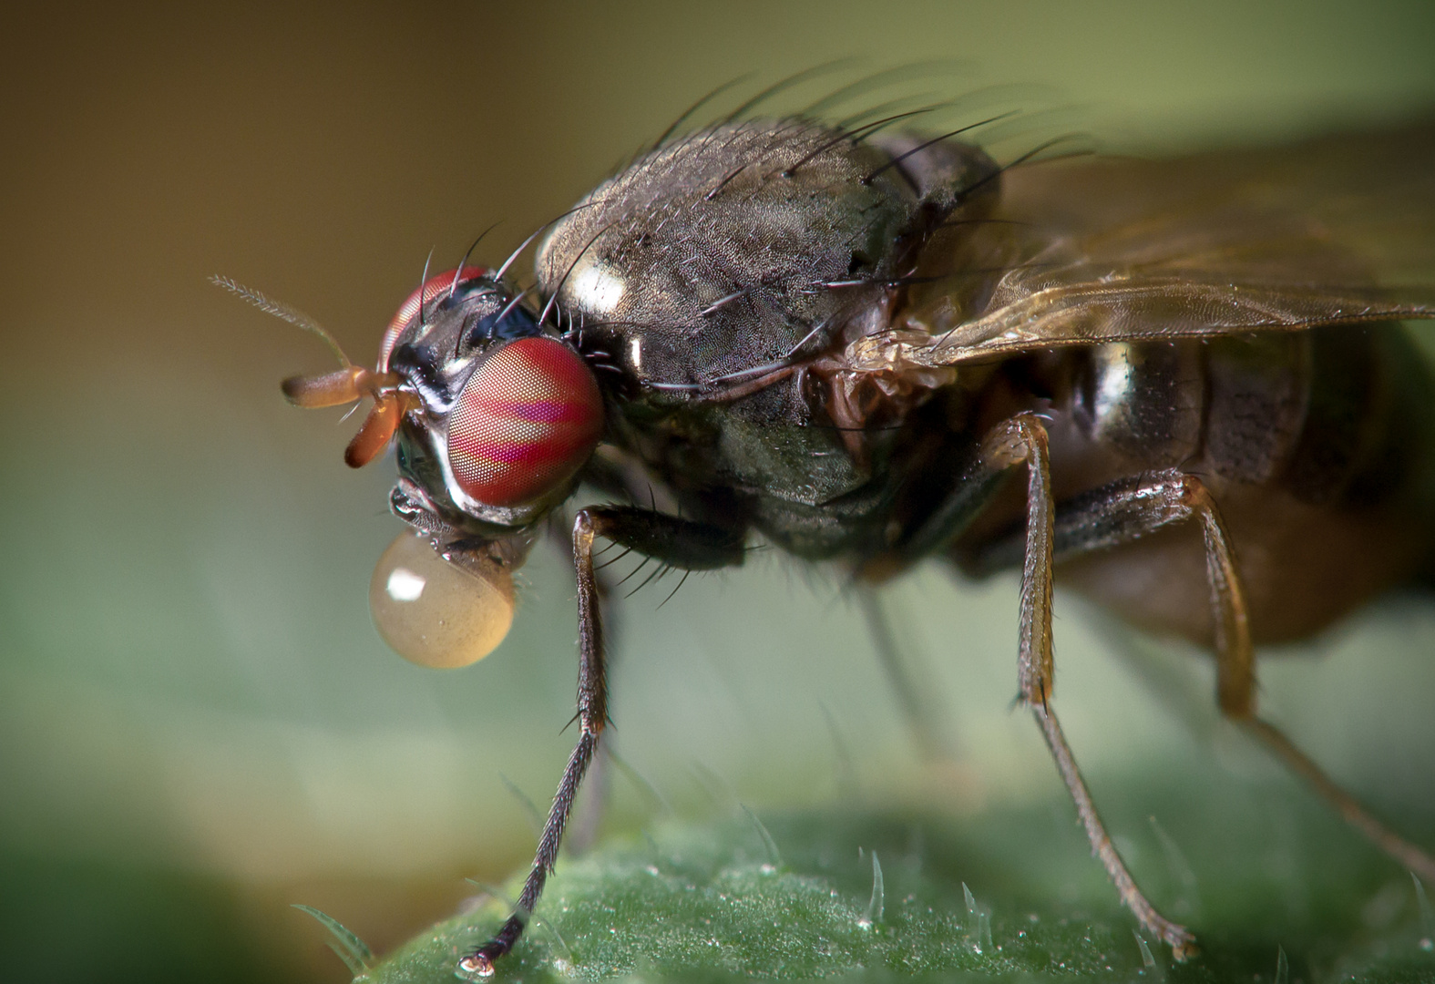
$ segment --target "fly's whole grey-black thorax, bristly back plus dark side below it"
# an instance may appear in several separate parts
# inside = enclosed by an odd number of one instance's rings
[[[623,416],[610,429],[662,478],[735,489],[799,554],[838,549],[837,503],[871,512],[884,476],[880,456],[852,455],[808,370],[888,327],[923,244],[954,211],[984,209],[994,175],[956,143],[719,125],[643,156],[555,224],[540,293],[607,370]]]

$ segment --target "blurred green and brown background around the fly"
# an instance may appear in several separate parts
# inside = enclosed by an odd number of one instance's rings
[[[369,361],[425,255],[497,262],[697,96],[857,56],[1049,86],[1115,149],[1276,141],[1435,106],[1435,6],[792,3],[49,6],[0,29],[0,977],[344,980],[309,902],[383,951],[530,853],[502,777],[547,803],[571,734],[573,587],[527,568],[511,638],[420,670],[379,641],[392,468],[277,382],[311,337],[205,283],[316,316]],[[1435,166],[1435,165],[1432,165]],[[1060,803],[1015,693],[1016,590],[943,571],[891,600],[947,713],[920,765],[855,610],[765,555],[624,605],[616,746],[670,802],[953,815]],[[1284,787],[1214,720],[1208,667],[1134,673],[1058,607],[1059,707],[1149,836],[1148,777]],[[1435,842],[1435,610],[1382,604],[1267,663],[1271,716]],[[1165,683],[1148,686],[1155,677]],[[1200,783],[1208,783],[1201,786]],[[848,783],[850,785],[850,783]],[[613,782],[610,823],[646,795]],[[1413,823],[1413,826],[1412,826]],[[1360,849],[1353,835],[1352,849]],[[1399,878],[1393,865],[1392,878]]]

